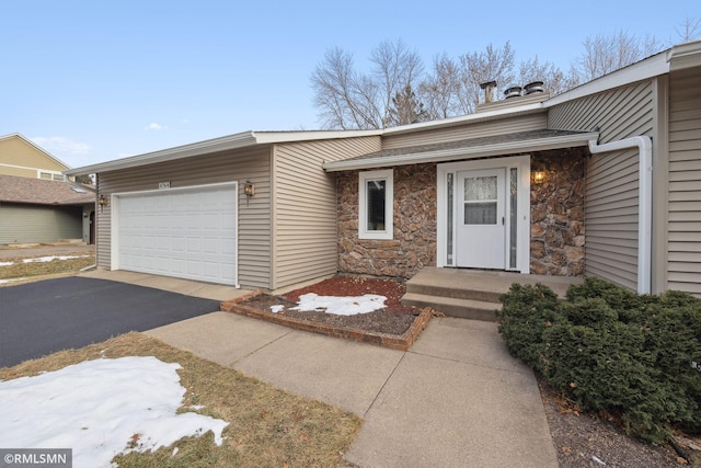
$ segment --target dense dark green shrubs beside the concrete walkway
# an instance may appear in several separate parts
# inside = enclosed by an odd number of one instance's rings
[[[542,285],[513,285],[502,303],[509,352],[583,409],[618,414],[653,443],[673,426],[701,432],[701,300],[587,278],[563,301]]]

